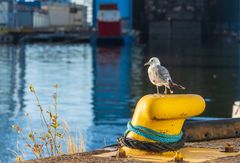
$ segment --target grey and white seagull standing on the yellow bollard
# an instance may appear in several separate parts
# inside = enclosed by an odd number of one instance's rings
[[[161,86],[165,87],[164,94],[167,94],[167,89],[170,90],[170,93],[173,93],[171,89],[174,87],[185,89],[183,86],[172,81],[168,70],[164,66],[161,66],[161,63],[157,57],[150,58],[149,61],[144,64],[144,66],[147,65],[149,65],[148,77],[151,83],[157,86],[157,94],[159,94],[158,87]]]

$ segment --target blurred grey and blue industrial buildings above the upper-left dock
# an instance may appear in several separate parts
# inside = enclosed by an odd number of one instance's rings
[[[1,28],[9,29],[9,24],[14,30],[87,25],[87,7],[68,0],[11,2],[0,2]]]

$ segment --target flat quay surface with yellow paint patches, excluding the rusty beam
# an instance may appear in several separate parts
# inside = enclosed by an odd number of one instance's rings
[[[185,153],[188,156],[183,155],[183,162],[203,162],[203,163],[218,163],[228,162],[236,163],[240,160],[239,146],[235,145],[239,142],[239,138],[234,139],[222,139],[212,140],[204,142],[186,143]],[[227,144],[233,144],[234,150],[232,152],[226,151]],[[145,157],[116,157],[117,146],[107,147],[92,152],[76,153],[71,155],[62,155],[57,158],[46,158],[39,160],[25,161],[27,163],[36,162],[49,162],[49,161],[61,161],[61,162],[104,162],[104,163],[147,163],[147,162],[174,162],[174,157],[159,157],[154,158]],[[187,153],[187,151],[189,153]],[[184,154],[185,154],[184,153]]]

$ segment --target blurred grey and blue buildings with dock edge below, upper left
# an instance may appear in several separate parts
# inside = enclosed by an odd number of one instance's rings
[[[0,42],[89,40],[87,7],[65,1],[1,1]]]

